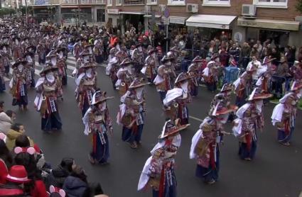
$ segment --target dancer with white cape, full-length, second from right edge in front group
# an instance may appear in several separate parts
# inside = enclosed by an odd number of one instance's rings
[[[264,128],[263,100],[272,94],[265,94],[255,88],[249,95],[248,103],[238,109],[234,120],[233,133],[239,139],[239,157],[246,161],[254,159],[257,150],[257,130]]]

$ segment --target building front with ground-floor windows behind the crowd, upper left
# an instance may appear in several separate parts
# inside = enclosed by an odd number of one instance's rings
[[[33,11],[38,21],[55,23],[82,24],[105,22],[104,0],[34,0]]]

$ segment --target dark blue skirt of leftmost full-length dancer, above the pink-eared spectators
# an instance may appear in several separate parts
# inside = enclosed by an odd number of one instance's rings
[[[61,130],[62,122],[60,114],[58,111],[46,115],[45,118],[41,120],[41,130],[50,131],[50,130]]]

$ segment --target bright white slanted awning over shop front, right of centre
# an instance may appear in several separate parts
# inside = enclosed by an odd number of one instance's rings
[[[193,15],[185,21],[186,26],[193,26],[199,28],[217,28],[230,29],[230,23],[234,21],[237,16],[223,16],[223,15]]]

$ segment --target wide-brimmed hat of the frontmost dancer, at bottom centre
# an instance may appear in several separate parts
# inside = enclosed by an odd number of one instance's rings
[[[165,125],[163,125],[163,130],[161,131],[161,135],[159,135],[159,139],[166,138],[171,135],[175,135],[178,133],[180,130],[184,130],[187,128],[190,124],[186,125],[180,125],[180,119],[176,120],[167,120]]]

